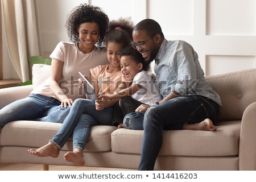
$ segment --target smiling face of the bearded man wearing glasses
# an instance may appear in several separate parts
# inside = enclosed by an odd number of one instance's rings
[[[152,61],[158,53],[158,45],[155,36],[148,36],[144,30],[133,31],[133,43],[137,45],[137,51],[142,54],[145,61]]]

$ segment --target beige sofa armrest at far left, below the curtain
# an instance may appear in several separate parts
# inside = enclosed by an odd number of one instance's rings
[[[32,85],[13,86],[0,89],[0,109],[13,101],[27,97],[32,89]]]

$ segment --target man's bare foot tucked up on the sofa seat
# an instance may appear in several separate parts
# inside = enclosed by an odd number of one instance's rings
[[[200,123],[195,124],[185,124],[183,126],[184,130],[206,130],[206,131],[216,131],[216,126],[213,125],[212,120],[209,118],[204,119],[204,121],[201,121]]]

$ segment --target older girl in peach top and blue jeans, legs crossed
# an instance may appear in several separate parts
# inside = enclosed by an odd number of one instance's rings
[[[120,51],[131,43],[133,23],[126,19],[110,22],[105,36],[108,60],[110,64],[90,69],[92,85],[98,93],[113,93],[123,80],[120,67]],[[95,103],[88,99],[77,99],[65,118],[63,125],[48,144],[28,152],[37,156],[59,156],[59,150],[73,133],[73,151],[64,155],[68,162],[79,166],[85,164],[82,150],[90,136],[90,128],[95,125],[112,125],[113,105],[117,100],[98,99]]]

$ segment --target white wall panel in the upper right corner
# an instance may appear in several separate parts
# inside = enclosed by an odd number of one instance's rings
[[[208,35],[256,35],[254,0],[207,0]]]

